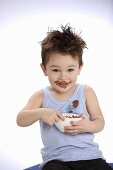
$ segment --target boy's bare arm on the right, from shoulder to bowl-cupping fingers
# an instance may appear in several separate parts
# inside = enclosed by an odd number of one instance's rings
[[[102,111],[100,109],[96,94],[91,87],[86,86],[85,96],[86,107],[90,114],[90,117],[88,117],[86,114],[82,114],[81,116],[83,117],[83,120],[79,122],[72,122],[72,126],[65,127],[66,133],[69,134],[85,132],[97,133],[104,128],[105,122],[102,115]]]

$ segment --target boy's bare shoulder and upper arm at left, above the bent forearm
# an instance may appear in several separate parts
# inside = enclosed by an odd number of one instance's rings
[[[40,108],[42,103],[43,103],[43,92],[37,91],[35,92],[29,99],[28,103],[26,104],[26,106],[23,108],[24,109],[36,109],[36,108]]]

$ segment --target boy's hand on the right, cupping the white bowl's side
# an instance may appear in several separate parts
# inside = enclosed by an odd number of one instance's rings
[[[65,133],[75,135],[78,133],[85,133],[91,131],[91,121],[89,117],[86,114],[82,114],[81,117],[82,120],[78,122],[72,121],[72,126],[65,126]]]

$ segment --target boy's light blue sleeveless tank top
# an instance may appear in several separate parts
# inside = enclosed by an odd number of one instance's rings
[[[79,101],[79,105],[74,109],[74,113],[86,113],[84,96],[85,85],[77,84],[73,95],[63,101],[56,100],[48,87],[42,89],[44,102],[42,107],[57,109],[62,112],[65,107],[74,100]],[[88,114],[89,115],[89,114]],[[55,125],[50,126],[40,121],[41,137],[44,147],[41,149],[43,162],[41,167],[50,160],[78,161],[103,158],[98,144],[94,143],[93,133],[83,133],[69,135],[60,132]]]

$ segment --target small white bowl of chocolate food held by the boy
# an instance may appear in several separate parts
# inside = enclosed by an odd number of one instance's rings
[[[79,117],[78,114],[74,113],[63,113],[63,116],[65,117],[65,120],[60,120],[55,123],[56,127],[61,131],[64,132],[65,126],[71,126],[71,121],[78,122],[79,120],[82,120],[82,117]]]

